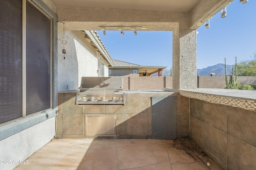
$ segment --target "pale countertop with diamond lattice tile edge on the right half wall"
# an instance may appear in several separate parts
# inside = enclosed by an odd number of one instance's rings
[[[165,88],[165,90],[173,91],[172,88]],[[196,90],[178,90],[178,92],[188,98],[256,111],[255,90],[197,88]]]

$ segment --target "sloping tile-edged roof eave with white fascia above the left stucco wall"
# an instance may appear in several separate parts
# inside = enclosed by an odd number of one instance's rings
[[[85,38],[90,42],[92,47],[94,47],[94,49],[98,51],[100,56],[102,56],[103,59],[108,63],[108,66],[114,66],[114,61],[109,55],[105,45],[101,41],[100,36],[97,35],[97,32],[96,31],[82,31],[82,32],[86,34]]]

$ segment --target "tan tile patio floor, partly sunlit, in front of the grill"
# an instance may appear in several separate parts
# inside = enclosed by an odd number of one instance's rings
[[[27,160],[15,170],[222,170],[190,140],[55,139]]]

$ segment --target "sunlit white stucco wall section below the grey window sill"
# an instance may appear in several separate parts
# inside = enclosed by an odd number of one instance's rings
[[[38,123],[20,133],[0,141],[0,160],[10,160],[10,164],[0,164],[1,170],[11,170],[18,164],[16,160],[26,160],[38,149],[50,142],[55,133],[55,118]]]

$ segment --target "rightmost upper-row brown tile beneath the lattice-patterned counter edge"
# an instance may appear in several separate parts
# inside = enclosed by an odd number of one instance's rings
[[[227,106],[227,133],[256,147],[256,111]]]

